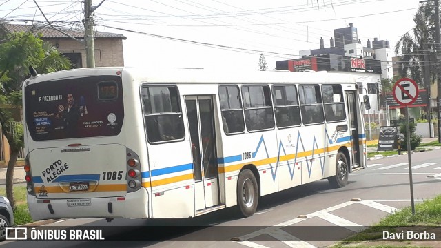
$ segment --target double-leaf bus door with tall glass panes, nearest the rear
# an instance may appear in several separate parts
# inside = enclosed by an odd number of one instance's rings
[[[186,96],[192,145],[195,209],[219,204],[218,165],[212,96]]]

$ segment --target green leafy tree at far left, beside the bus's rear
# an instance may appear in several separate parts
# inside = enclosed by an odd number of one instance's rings
[[[23,125],[13,121],[11,110],[21,106],[22,82],[29,76],[28,67],[41,69],[40,73],[72,68],[68,58],[50,45],[43,45],[39,36],[30,32],[8,34],[7,41],[0,44],[0,108],[1,131],[8,139],[11,149],[6,170],[6,197],[15,207],[13,195],[14,165],[24,146]]]

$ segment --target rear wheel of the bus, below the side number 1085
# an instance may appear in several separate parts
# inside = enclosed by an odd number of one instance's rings
[[[237,203],[240,216],[252,216],[257,209],[259,189],[256,176],[249,169],[244,169],[239,174],[237,184]]]

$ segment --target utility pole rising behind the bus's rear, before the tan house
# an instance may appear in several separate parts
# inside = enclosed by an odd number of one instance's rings
[[[88,68],[95,67],[94,19],[92,18],[92,0],[84,1],[84,41],[85,59]]]

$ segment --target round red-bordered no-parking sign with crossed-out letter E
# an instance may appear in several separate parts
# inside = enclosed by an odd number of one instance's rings
[[[398,104],[412,105],[418,98],[418,85],[413,79],[402,78],[393,85],[392,94]]]

